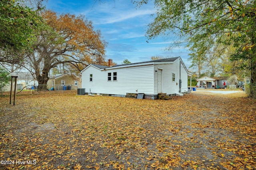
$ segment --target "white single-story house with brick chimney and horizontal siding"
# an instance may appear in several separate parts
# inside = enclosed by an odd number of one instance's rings
[[[144,93],[157,99],[159,93],[175,95],[188,92],[188,72],[180,57],[112,66],[89,64],[82,73],[85,93],[125,97]],[[190,88],[191,89],[191,88]]]

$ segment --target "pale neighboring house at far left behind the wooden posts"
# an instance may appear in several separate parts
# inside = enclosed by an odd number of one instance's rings
[[[12,72],[10,76],[18,76],[17,78],[17,90],[31,89],[38,85],[36,79],[32,76],[30,72]],[[13,82],[14,84],[14,82]],[[11,91],[11,82],[4,88],[5,92]]]

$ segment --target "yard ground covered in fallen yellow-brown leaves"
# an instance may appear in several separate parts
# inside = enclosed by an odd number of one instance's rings
[[[256,169],[256,101],[244,93],[41,92],[17,96],[16,106],[1,97],[0,117],[0,169]]]

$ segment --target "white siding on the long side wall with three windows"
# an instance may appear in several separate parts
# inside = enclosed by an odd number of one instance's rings
[[[111,69],[112,76],[116,72],[116,79],[106,81],[106,75],[110,70],[100,70],[94,66],[89,66],[82,72],[82,88],[86,92],[99,94],[144,93],[154,94],[154,72],[153,65],[134,66],[126,68]],[[90,74],[93,73],[93,82],[89,83]],[[137,91],[136,91],[137,90]]]

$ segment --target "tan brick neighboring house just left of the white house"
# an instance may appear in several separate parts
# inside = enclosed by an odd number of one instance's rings
[[[47,88],[52,90],[76,90],[81,88],[82,80],[80,77],[68,74],[56,74],[51,76],[47,82]]]

